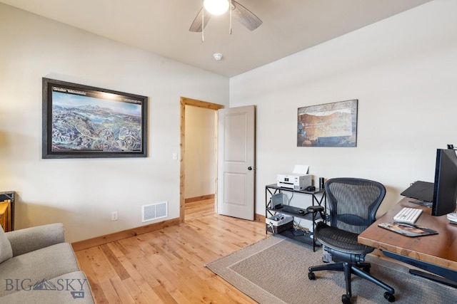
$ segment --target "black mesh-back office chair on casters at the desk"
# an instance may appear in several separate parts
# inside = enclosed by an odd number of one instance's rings
[[[310,267],[308,278],[316,280],[314,271],[344,271],[346,294],[342,295],[341,300],[348,304],[351,303],[353,273],[386,289],[384,298],[389,302],[395,301],[393,288],[369,274],[371,265],[365,262],[365,255],[374,248],[357,242],[358,234],[375,221],[386,188],[367,179],[335,178],[328,179],[325,189],[331,226],[319,222],[314,237],[322,243],[324,251],[331,254],[331,260],[335,263]]]

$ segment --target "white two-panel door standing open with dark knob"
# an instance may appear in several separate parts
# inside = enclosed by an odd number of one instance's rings
[[[255,107],[218,110],[217,213],[254,219]]]

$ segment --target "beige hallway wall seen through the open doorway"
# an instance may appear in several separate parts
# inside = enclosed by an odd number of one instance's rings
[[[216,111],[186,105],[184,198],[216,192]]]

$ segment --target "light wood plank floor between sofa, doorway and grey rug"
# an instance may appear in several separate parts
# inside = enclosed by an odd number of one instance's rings
[[[186,204],[186,223],[76,251],[96,303],[256,303],[204,265],[266,237],[265,225]]]

